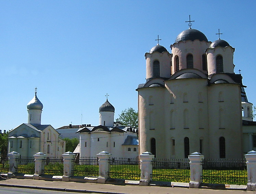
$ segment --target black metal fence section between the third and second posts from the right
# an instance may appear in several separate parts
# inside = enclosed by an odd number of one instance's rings
[[[152,180],[168,182],[189,182],[190,164],[189,159],[158,159],[151,162]]]

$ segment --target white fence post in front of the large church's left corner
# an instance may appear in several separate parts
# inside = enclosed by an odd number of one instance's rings
[[[150,174],[152,173],[151,161],[155,156],[150,152],[144,152],[140,155],[141,160],[141,174],[140,185],[147,186],[152,180]]]

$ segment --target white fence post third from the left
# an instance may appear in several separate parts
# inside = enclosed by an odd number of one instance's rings
[[[75,157],[73,152],[65,152],[62,154],[64,172],[62,181],[69,181],[69,177],[72,175],[72,159]]]

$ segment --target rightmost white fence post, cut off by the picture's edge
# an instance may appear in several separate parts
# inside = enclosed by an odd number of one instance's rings
[[[247,165],[247,191],[256,191],[256,152],[251,151],[244,156]]]

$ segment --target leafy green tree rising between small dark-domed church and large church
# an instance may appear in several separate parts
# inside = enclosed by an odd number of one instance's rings
[[[121,112],[116,121],[121,122],[124,126],[138,128],[138,111],[133,108],[127,108]]]

